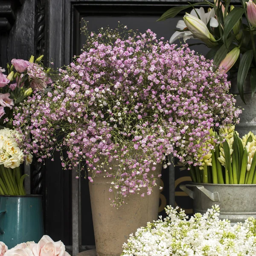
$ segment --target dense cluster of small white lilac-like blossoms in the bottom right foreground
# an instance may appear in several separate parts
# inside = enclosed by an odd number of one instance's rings
[[[178,208],[178,207],[177,207]],[[233,227],[220,220],[219,207],[188,219],[166,207],[167,217],[141,227],[123,244],[122,256],[255,256],[256,220],[251,217]]]

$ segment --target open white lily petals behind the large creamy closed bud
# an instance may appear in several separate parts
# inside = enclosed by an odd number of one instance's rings
[[[211,27],[218,27],[218,21],[215,19],[214,9],[211,9],[209,12],[205,13],[204,8],[201,7],[200,9],[193,9],[190,12],[190,15],[193,15],[194,17],[198,17],[196,12],[198,13],[200,19],[204,22],[205,25],[207,25],[208,22],[210,22]],[[186,26],[184,20],[179,20],[176,25],[176,28],[180,29],[180,30],[186,29],[187,26]],[[190,38],[195,38],[195,36],[189,30],[183,31],[183,32],[176,31],[170,38],[170,41],[169,41],[170,44],[172,44],[178,38],[183,38],[183,41],[186,42],[186,40],[188,40]]]

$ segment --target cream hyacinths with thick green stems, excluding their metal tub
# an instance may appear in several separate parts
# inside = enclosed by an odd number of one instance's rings
[[[188,168],[193,182],[256,184],[256,137],[249,132],[241,139],[234,128],[220,129],[224,141],[220,145],[214,145],[207,162],[204,159],[199,164],[199,174],[195,175],[194,166]],[[208,178],[209,174],[212,182]]]

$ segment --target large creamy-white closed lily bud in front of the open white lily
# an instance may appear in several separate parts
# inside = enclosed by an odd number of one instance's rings
[[[195,37],[199,39],[215,41],[215,38],[209,32],[209,29],[202,20],[188,13],[186,13],[186,15],[183,17],[183,20],[189,31],[192,32]]]

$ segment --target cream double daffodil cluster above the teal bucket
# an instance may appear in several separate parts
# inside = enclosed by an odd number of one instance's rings
[[[0,130],[0,165],[6,168],[19,167],[24,161],[23,151],[20,150],[16,140],[19,134],[15,130],[4,128]],[[26,164],[32,163],[32,155],[26,157]]]

